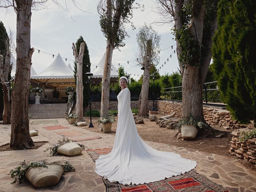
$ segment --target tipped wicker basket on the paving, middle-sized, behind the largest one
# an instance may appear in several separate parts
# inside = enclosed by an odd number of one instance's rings
[[[82,153],[82,148],[74,142],[65,143],[58,147],[57,152],[67,156],[75,156]]]

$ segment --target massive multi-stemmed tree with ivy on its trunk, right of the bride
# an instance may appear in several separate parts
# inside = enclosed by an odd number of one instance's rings
[[[172,16],[174,20],[174,36],[182,74],[182,118],[189,119],[192,116],[197,121],[205,122],[202,87],[212,58],[212,37],[217,28],[218,0],[157,2],[162,7],[160,14]],[[214,130],[210,126],[200,131],[218,136],[226,135],[226,132]]]

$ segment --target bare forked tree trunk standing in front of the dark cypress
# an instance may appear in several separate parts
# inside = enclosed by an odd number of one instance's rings
[[[76,60],[76,115],[78,116],[78,121],[84,121],[83,114],[83,56],[84,56],[84,42],[80,44],[79,55],[76,51],[76,46],[73,43],[72,49],[74,51],[74,56]]]

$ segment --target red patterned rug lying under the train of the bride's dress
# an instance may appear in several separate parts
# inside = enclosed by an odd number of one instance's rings
[[[112,148],[87,150],[87,153],[95,162],[100,154],[108,154],[111,150]],[[228,192],[222,186],[193,170],[182,175],[140,185],[122,185],[118,182],[111,183],[105,178],[102,179],[107,192]]]

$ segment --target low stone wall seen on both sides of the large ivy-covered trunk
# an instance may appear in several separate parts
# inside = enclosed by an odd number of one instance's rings
[[[162,114],[172,114],[176,112],[175,118],[182,117],[182,104],[172,103],[170,101],[157,101],[158,112]],[[244,128],[246,125],[239,124],[236,120],[232,120],[230,112],[224,109],[203,107],[204,119],[213,127],[223,127],[224,129]]]

